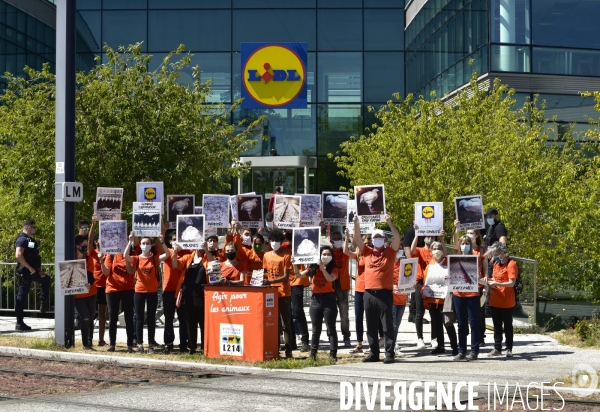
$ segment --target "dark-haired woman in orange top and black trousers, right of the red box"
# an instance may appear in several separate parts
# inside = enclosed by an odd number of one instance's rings
[[[321,260],[319,263],[309,265],[307,269],[302,271],[299,270],[298,265],[294,265],[294,274],[297,278],[309,277],[312,282],[309,310],[312,322],[310,357],[313,360],[317,359],[324,319],[327,326],[327,336],[329,337],[329,359],[335,362],[337,361],[338,337],[335,330],[337,306],[333,282],[337,278],[338,269],[333,249],[329,246],[321,247]]]

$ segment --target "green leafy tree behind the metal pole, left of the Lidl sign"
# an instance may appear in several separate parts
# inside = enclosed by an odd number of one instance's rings
[[[123,187],[124,218],[135,201],[135,183],[163,181],[167,193],[225,193],[244,172],[236,160],[255,141],[261,119],[233,125],[231,106],[208,103],[210,82],[178,82],[190,65],[184,46],[149,71],[141,44],[105,47],[106,63],[77,73],[76,179],[84,200],[78,218],[90,218],[96,187]],[[45,262],[54,253],[55,76],[45,66],[25,69],[28,78],[6,74],[0,96],[0,256],[13,261],[13,242],[26,218],[38,222]]]

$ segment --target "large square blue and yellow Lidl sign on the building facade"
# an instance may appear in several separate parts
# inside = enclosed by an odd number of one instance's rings
[[[242,109],[306,108],[306,43],[242,43]]]

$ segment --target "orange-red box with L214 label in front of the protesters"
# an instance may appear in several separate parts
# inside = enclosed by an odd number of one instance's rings
[[[277,288],[204,287],[204,354],[262,362],[279,357]]]

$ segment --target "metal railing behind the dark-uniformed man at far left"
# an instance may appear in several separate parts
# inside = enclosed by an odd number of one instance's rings
[[[0,310],[14,310],[17,300],[17,279],[15,276],[16,263],[0,262]],[[50,308],[48,313],[54,312],[54,265],[51,263],[42,264],[46,276],[50,276]],[[34,312],[40,308],[40,287],[36,282],[31,283],[29,296],[25,302],[25,312]]]

